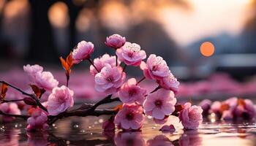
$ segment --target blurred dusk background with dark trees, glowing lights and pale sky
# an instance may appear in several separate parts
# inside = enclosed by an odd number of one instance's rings
[[[104,45],[111,34],[165,58],[184,82],[180,96],[212,90],[255,95],[254,0],[0,0],[0,79],[25,80],[22,66],[40,64],[64,80],[59,56],[83,39],[94,43],[93,58],[113,54]],[[200,50],[203,42],[211,48]],[[84,73],[88,66],[75,69]]]

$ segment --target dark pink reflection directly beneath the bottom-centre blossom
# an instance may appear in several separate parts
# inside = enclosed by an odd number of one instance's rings
[[[145,139],[143,139],[140,132],[120,131],[115,137],[116,146],[146,146]]]

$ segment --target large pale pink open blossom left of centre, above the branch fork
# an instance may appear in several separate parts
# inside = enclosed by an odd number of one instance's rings
[[[126,74],[120,66],[106,64],[102,70],[95,75],[95,89],[99,92],[116,93],[123,84]]]

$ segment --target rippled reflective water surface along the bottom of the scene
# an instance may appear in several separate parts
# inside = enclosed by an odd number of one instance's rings
[[[91,118],[90,120],[94,120]],[[75,121],[77,121],[76,119]],[[86,118],[88,120],[88,118]],[[81,120],[82,121],[82,120]],[[84,121],[81,123],[85,123]],[[200,145],[254,145],[255,123],[203,123],[198,131],[177,128],[173,133],[158,131],[161,126],[142,131],[102,132],[100,124],[81,123],[73,128],[74,119],[56,123],[48,131],[27,132],[25,123],[0,125],[0,146],[12,145],[117,145],[117,146],[200,146]]]

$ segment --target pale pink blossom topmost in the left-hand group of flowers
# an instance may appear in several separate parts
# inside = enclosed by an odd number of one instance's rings
[[[27,64],[26,66],[23,66],[24,72],[28,74],[29,81],[34,82],[36,80],[36,74],[37,72],[42,72],[43,68],[42,66],[39,66],[37,64],[31,66],[30,64]]]

